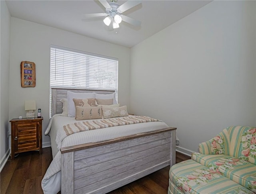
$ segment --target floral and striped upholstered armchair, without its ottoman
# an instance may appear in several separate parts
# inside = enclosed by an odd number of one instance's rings
[[[227,127],[199,144],[192,159],[256,193],[256,128]]]

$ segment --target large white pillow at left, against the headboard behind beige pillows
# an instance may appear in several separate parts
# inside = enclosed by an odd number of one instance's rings
[[[76,116],[76,108],[73,101],[73,98],[76,99],[85,99],[85,98],[95,98],[95,93],[76,93],[68,91],[68,116]]]

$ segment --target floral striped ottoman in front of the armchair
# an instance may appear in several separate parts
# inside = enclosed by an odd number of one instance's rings
[[[187,160],[173,165],[169,171],[170,193],[184,194],[253,194],[240,184],[222,176],[196,161]],[[173,186],[175,185],[175,187]],[[173,192],[173,189],[179,191]]]

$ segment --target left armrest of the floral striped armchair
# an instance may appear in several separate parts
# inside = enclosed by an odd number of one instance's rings
[[[199,152],[202,154],[225,154],[224,138],[221,134],[199,144]]]

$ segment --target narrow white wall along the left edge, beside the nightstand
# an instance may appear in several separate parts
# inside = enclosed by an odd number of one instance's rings
[[[9,127],[9,63],[10,63],[10,13],[5,1],[1,7],[1,64],[0,64],[0,159],[1,169],[9,153],[7,131]]]

